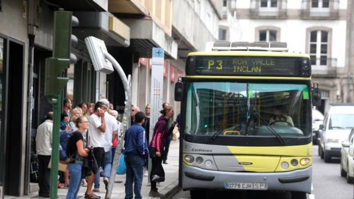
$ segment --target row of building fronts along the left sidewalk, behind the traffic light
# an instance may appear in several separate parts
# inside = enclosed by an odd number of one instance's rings
[[[0,0],[0,198],[38,191],[31,157],[36,129],[52,110],[44,96],[45,59],[52,56],[58,8],[73,11],[80,23],[73,28],[79,44],[72,53],[78,62],[63,73],[69,77],[64,97],[73,107],[105,97],[118,111],[125,99],[119,75],[95,71],[85,37],[104,40],[132,75],[132,103],[142,110],[150,101],[152,47],[164,48],[163,100],[178,113],[174,83],[185,74],[187,54],[217,40],[222,18],[218,0]]]

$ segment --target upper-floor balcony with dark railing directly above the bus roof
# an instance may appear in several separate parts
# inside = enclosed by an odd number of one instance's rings
[[[251,18],[268,18],[268,19],[284,19],[286,18],[287,0],[278,0],[272,4],[267,1],[267,6],[262,5],[261,0],[251,0],[250,17]]]

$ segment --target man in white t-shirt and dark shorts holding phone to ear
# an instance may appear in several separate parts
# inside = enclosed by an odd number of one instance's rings
[[[89,137],[86,138],[89,146],[93,147],[98,167],[102,165],[104,158],[104,132],[106,131],[104,112],[106,109],[107,106],[102,102],[98,101],[95,104],[94,112],[89,117]],[[99,175],[99,172],[96,175]],[[96,175],[92,173],[88,177],[85,198],[98,198],[92,193],[92,185]]]

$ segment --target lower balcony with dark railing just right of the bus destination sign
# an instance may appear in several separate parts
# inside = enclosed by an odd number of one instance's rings
[[[334,78],[337,76],[337,59],[336,58],[317,58],[311,59],[311,69],[313,77]]]

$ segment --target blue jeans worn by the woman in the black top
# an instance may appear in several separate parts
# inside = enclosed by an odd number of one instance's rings
[[[69,167],[69,189],[66,199],[76,199],[81,185],[82,164],[68,164]]]

